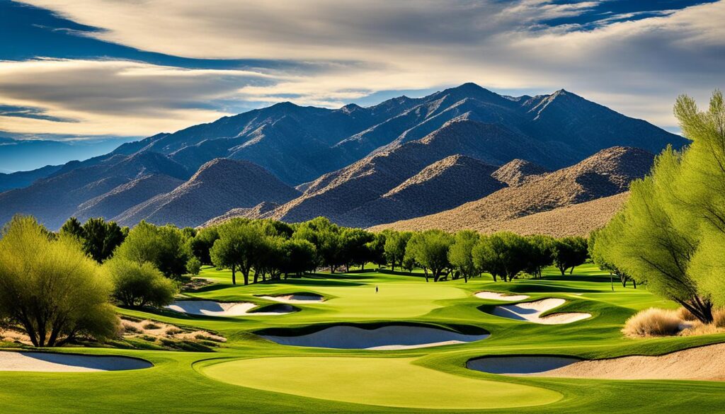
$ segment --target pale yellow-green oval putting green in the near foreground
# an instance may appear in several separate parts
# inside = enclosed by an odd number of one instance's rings
[[[413,365],[415,358],[269,357],[202,368],[218,381],[302,397],[387,407],[471,409],[544,405],[563,396]]]

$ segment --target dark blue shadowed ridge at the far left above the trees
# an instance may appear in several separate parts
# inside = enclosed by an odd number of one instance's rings
[[[48,228],[57,229],[80,204],[151,174],[188,178],[186,168],[162,154],[117,155],[90,167],[54,173],[23,189],[0,193],[0,223],[6,223],[15,214],[26,214],[34,215]]]

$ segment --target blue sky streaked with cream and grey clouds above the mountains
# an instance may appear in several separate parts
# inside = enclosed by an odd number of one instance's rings
[[[128,140],[283,100],[566,88],[676,129],[725,87],[722,1],[0,0],[0,133]]]

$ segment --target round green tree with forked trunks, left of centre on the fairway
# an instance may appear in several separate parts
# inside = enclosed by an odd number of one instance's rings
[[[236,285],[236,271],[249,284],[249,272],[260,254],[264,234],[259,225],[248,220],[233,218],[218,228],[219,239],[210,251],[212,263],[218,268],[231,269],[232,283]]]

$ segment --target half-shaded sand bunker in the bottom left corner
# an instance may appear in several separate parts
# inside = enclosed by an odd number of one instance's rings
[[[54,354],[49,352],[0,352],[0,371],[96,372],[139,370],[154,366],[130,357]]]

